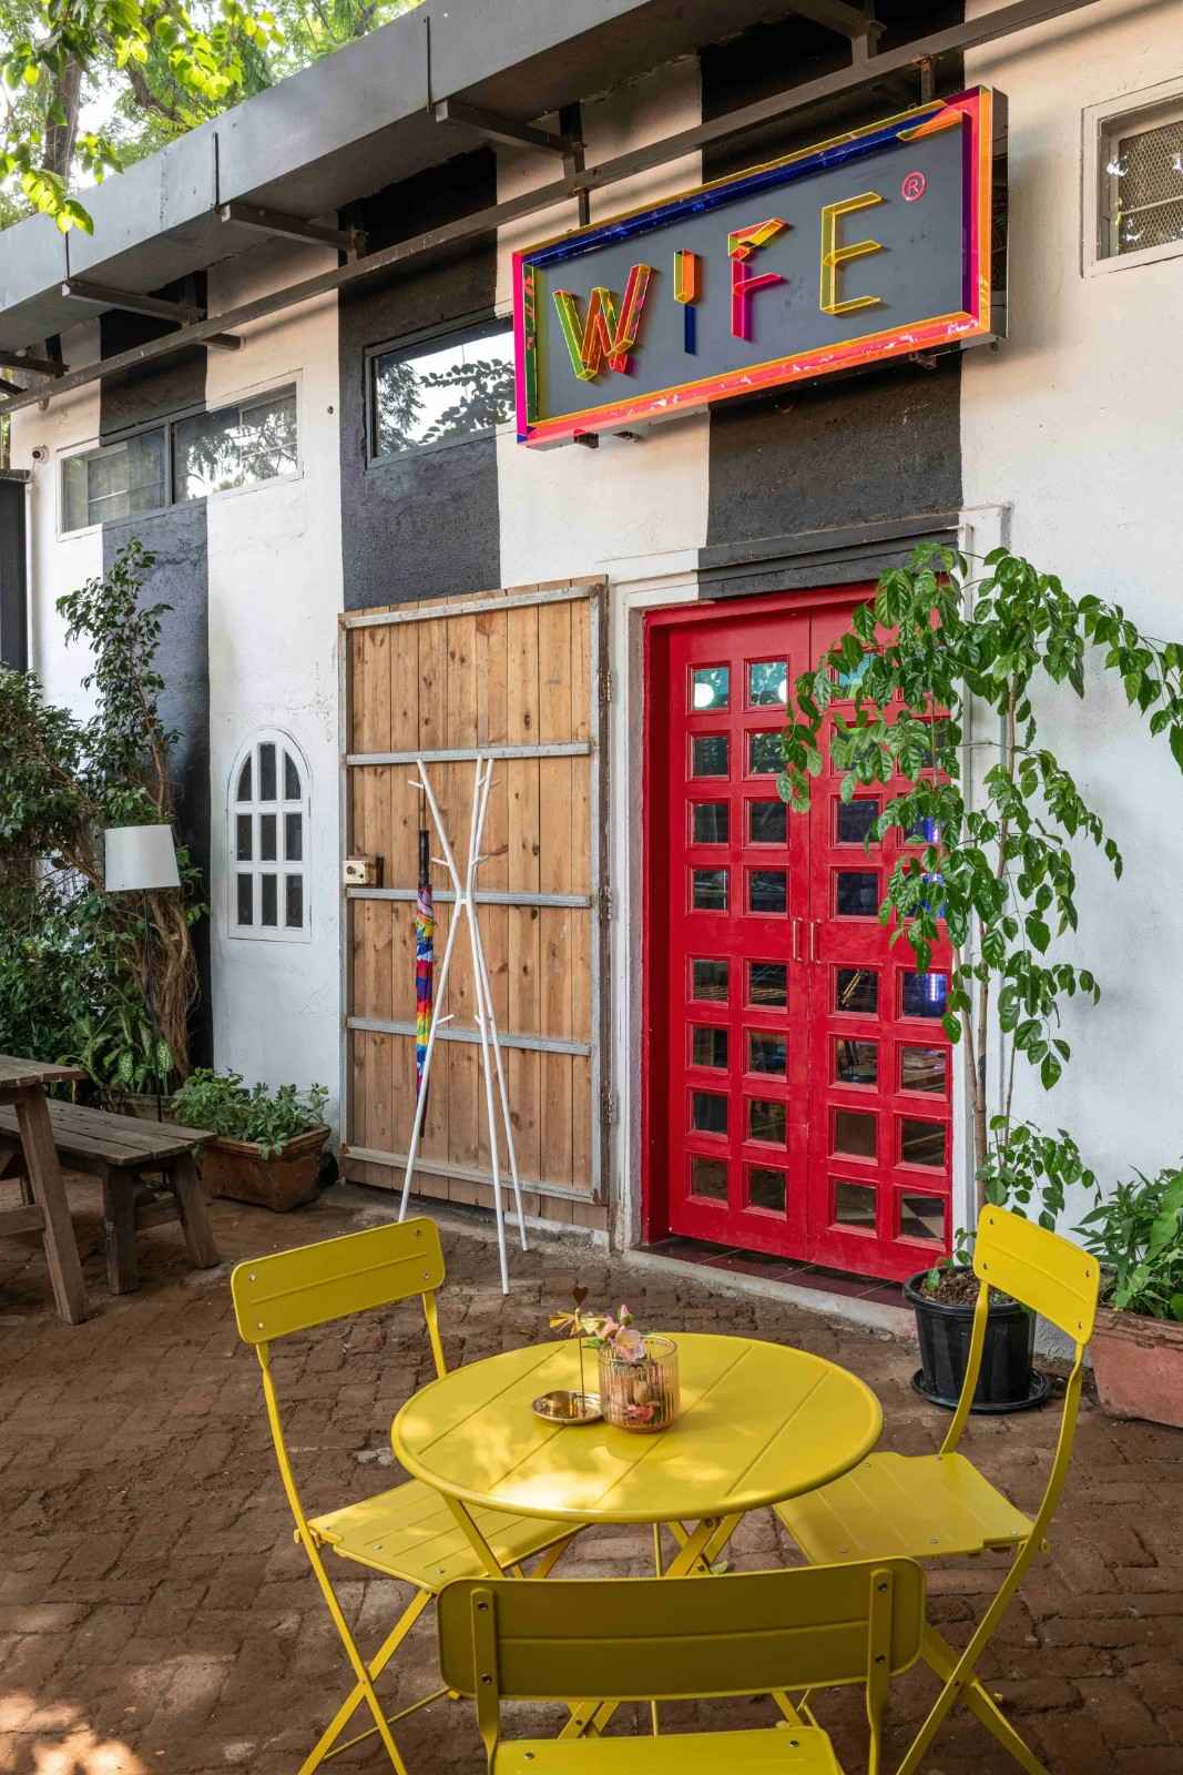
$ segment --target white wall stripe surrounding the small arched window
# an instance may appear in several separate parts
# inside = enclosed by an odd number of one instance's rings
[[[213,312],[312,277],[335,254],[247,254],[209,273]],[[337,612],[342,604],[337,298],[239,328],[211,351],[211,410],[296,383],[300,474],[215,493],[209,525],[209,792],[215,1063],[248,1081],[326,1085],[339,1074]],[[239,749],[280,728],[310,765],[310,941],[229,934],[227,793]]]

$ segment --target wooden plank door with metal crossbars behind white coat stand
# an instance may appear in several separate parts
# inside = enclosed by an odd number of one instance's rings
[[[585,580],[342,618],[346,854],[383,859],[381,888],[348,889],[344,903],[349,1177],[401,1187],[415,1115],[415,754],[463,872],[475,758],[491,753],[477,898],[527,1211],[605,1223],[601,598],[603,584]],[[438,866],[433,888],[442,958],[450,886]],[[484,1203],[491,1157],[465,941],[443,1008],[452,1021],[433,1060],[415,1187]]]

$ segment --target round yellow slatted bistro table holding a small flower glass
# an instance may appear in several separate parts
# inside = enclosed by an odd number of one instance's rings
[[[578,1525],[653,1523],[679,1542],[667,1576],[706,1571],[740,1519],[798,1498],[857,1466],[876,1445],[883,1413],[871,1388],[837,1363],[757,1338],[676,1337],[681,1415],[640,1434],[610,1424],[557,1425],[530,1402],[578,1388],[578,1349],[534,1344],[454,1369],[424,1386],[394,1420],[408,1473],[433,1486],[491,1576],[500,1576],[474,1511]],[[584,1353],[596,1392],[596,1353]],[[605,1711],[607,1709],[607,1711]],[[566,1734],[598,1731],[610,1704],[576,1708]]]

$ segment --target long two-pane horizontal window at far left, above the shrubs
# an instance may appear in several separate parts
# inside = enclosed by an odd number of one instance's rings
[[[62,531],[257,486],[298,467],[296,390],[280,389],[66,456]]]

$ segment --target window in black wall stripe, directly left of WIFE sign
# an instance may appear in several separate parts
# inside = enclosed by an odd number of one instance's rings
[[[371,456],[488,437],[513,414],[513,327],[486,321],[371,359]]]

